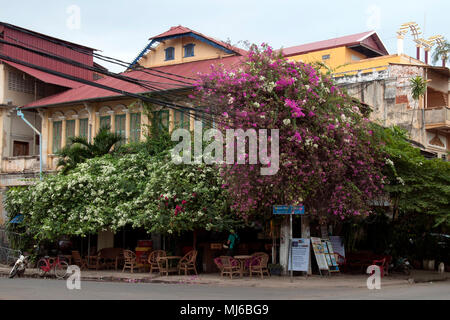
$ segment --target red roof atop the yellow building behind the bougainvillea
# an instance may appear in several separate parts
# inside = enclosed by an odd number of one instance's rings
[[[370,39],[373,38],[373,39]],[[379,55],[387,55],[389,54],[386,50],[385,46],[381,42],[378,35],[375,33],[375,31],[368,31],[368,32],[362,32],[362,33],[356,33],[349,36],[329,39],[329,40],[323,40],[323,41],[317,41],[312,43],[307,43],[299,46],[294,46],[290,48],[283,49],[283,55],[285,57],[298,55],[298,54],[305,54],[308,52],[313,51],[319,51],[319,50],[325,50],[330,48],[336,48],[336,47],[350,47],[354,45],[365,45],[369,47],[370,49],[376,51],[379,53]]]

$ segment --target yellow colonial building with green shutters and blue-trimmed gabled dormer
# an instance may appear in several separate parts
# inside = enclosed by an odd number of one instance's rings
[[[193,108],[198,106],[188,95],[198,72],[209,72],[212,64],[232,66],[244,54],[242,49],[177,26],[150,38],[149,44],[122,73],[145,86],[105,77],[97,83],[124,93],[82,85],[25,105],[23,110],[36,110],[42,119],[44,170],[57,169],[56,153],[70,137],[84,136],[92,141],[102,126],[108,125],[126,142],[143,139],[151,118],[158,119],[158,125],[168,130],[175,125],[193,128]],[[151,95],[189,108],[174,110],[155,105],[149,115],[144,102],[130,98],[127,93]]]

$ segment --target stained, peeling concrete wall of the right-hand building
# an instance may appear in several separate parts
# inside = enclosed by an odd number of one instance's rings
[[[435,152],[438,156],[450,151],[446,143],[439,143],[434,138],[436,134],[441,140],[448,140],[449,134],[443,130],[446,125],[448,109],[424,109],[425,97],[416,101],[411,94],[410,79],[415,76],[426,77],[425,69],[420,66],[391,65],[386,71],[357,74],[336,79],[337,83],[347,89],[348,93],[369,105],[373,112],[370,120],[389,127],[397,125],[404,128],[410,138],[424,146],[427,151]],[[434,87],[448,90],[448,79],[441,75],[428,73],[428,78],[434,82]],[[446,92],[444,92],[447,94]],[[433,142],[430,143],[430,124],[433,127]],[[450,126],[449,126],[450,127]],[[431,132],[433,133],[433,132]],[[445,145],[445,147],[439,147]]]

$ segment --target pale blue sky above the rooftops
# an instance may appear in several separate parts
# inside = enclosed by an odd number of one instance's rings
[[[67,11],[74,5],[80,9],[79,25],[73,24],[74,11]],[[375,29],[389,52],[396,53],[396,31],[404,22],[417,22],[425,38],[436,34],[450,38],[449,12],[448,0],[0,0],[3,22],[126,61],[133,60],[148,38],[179,24],[233,44],[248,40],[274,48]],[[415,56],[410,36],[405,53]]]

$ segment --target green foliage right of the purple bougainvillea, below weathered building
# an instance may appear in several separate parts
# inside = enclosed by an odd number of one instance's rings
[[[428,214],[436,225],[450,225],[450,162],[426,159],[399,128],[374,125],[374,132],[387,154],[385,189],[394,214]]]

